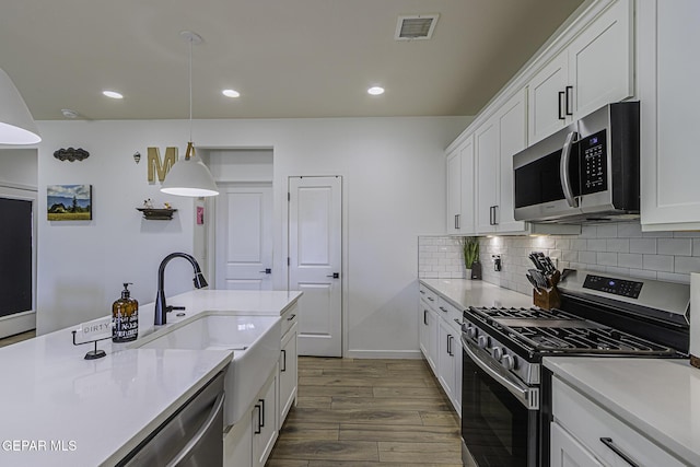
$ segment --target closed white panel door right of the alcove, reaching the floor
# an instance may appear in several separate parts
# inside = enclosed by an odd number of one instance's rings
[[[289,288],[301,290],[299,354],[342,357],[340,177],[289,179]]]

